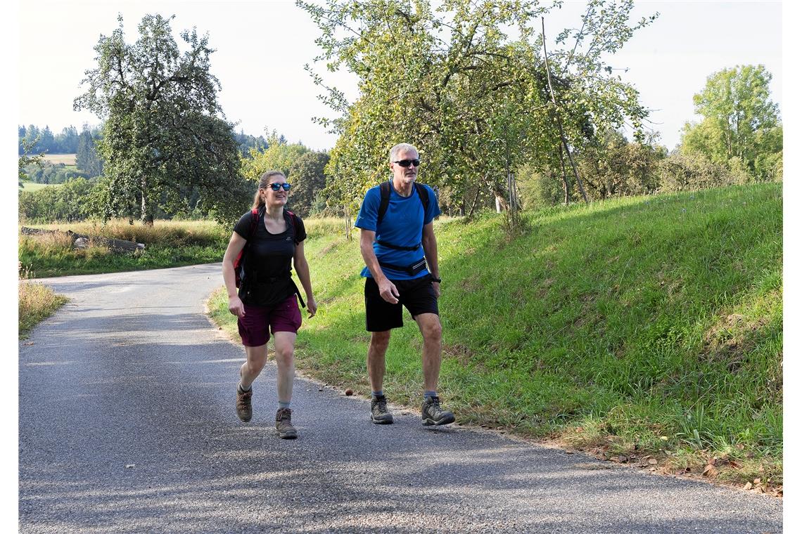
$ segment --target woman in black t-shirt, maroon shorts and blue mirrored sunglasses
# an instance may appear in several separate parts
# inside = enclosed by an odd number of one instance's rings
[[[240,368],[237,384],[237,416],[251,420],[251,384],[265,367],[267,341],[273,331],[278,367],[278,410],[276,430],[283,439],[294,439],[298,432],[292,425],[290,399],[295,375],[295,337],[301,326],[300,296],[291,278],[290,262],[306,292],[306,307],[314,317],[318,305],[312,295],[309,264],[303,252],[306,229],[302,220],[284,209],[290,184],[281,171],[261,175],[253,197],[254,211],[242,215],[235,225],[229,247],[223,257],[223,281],[229,292],[229,311],[237,315],[246,361]],[[240,289],[234,261],[242,251]],[[303,299],[301,300],[303,303]]]

